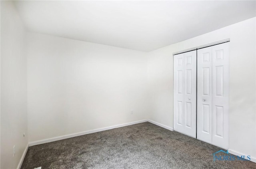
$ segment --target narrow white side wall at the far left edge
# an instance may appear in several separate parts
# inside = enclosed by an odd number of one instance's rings
[[[16,168],[28,144],[24,35],[13,3],[1,1],[1,169]]]

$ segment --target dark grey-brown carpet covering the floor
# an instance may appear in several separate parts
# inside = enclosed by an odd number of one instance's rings
[[[214,162],[219,150],[146,122],[29,147],[21,168],[256,169],[251,161]]]

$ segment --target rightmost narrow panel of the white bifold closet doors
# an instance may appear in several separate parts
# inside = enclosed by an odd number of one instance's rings
[[[229,43],[212,46],[212,144],[228,149]]]

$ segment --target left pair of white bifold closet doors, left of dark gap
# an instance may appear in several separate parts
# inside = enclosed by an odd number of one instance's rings
[[[174,55],[174,130],[196,137],[196,51]]]

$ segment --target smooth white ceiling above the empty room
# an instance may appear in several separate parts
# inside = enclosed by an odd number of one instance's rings
[[[152,51],[256,16],[256,1],[16,1],[31,32]]]

